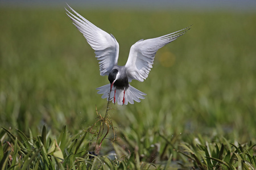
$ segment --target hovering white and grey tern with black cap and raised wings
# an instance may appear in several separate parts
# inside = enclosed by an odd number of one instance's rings
[[[145,99],[144,92],[141,92],[130,85],[132,80],[143,82],[154,63],[155,54],[158,49],[174,41],[177,37],[184,35],[191,25],[179,31],[169,33],[153,39],[139,40],[130,48],[127,62],[124,66],[118,65],[119,44],[111,33],[103,31],[96,25],[89,22],[68,4],[71,10],[66,14],[73,21],[76,28],[84,35],[88,44],[95,50],[96,58],[100,65],[100,75],[108,75],[109,84],[96,88],[97,94],[102,94],[102,99],[112,100],[119,105],[138,103]]]

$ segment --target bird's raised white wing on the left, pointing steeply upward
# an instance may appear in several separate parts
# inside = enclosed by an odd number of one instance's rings
[[[67,9],[67,15],[73,20],[73,24],[84,35],[89,45],[95,50],[95,54],[100,64],[100,74],[108,75],[114,65],[117,65],[119,44],[112,34],[96,27],[70,6],[68,6],[76,15],[73,15]]]

